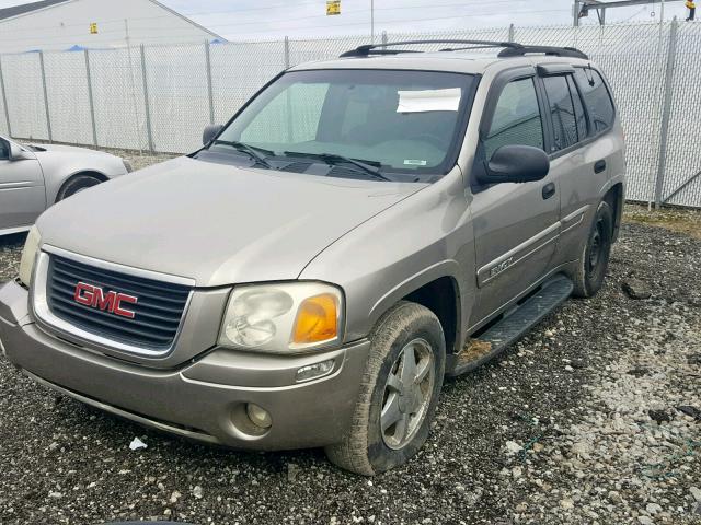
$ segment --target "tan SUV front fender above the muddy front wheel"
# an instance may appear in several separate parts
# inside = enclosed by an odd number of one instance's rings
[[[299,279],[333,282],[346,298],[345,340],[366,337],[398,301],[437,279],[457,283],[458,337],[474,298],[474,235],[459,171],[348,232]]]

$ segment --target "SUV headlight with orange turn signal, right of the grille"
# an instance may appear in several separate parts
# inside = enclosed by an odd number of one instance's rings
[[[343,295],[319,282],[237,287],[231,292],[219,345],[285,352],[341,340]]]

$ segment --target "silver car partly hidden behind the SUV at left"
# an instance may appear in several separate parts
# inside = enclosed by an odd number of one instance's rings
[[[0,235],[25,232],[55,202],[129,171],[101,151],[0,137]]]

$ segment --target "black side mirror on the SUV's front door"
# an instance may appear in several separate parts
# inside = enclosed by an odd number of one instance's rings
[[[550,159],[532,145],[503,145],[497,149],[485,170],[478,174],[481,184],[529,183],[541,180],[550,172]]]

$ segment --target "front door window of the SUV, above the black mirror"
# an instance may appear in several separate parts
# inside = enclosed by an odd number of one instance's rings
[[[496,103],[490,131],[483,141],[486,159],[502,145],[533,145],[543,149],[543,125],[533,79],[506,84]]]

